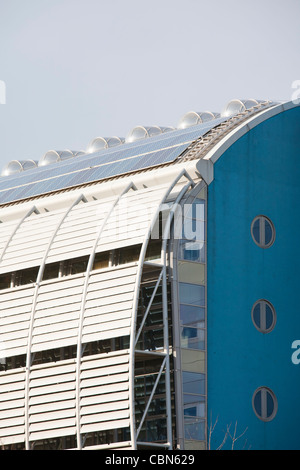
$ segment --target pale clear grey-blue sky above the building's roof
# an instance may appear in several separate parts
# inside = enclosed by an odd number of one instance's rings
[[[290,101],[299,46],[300,0],[0,0],[0,170],[233,98]]]

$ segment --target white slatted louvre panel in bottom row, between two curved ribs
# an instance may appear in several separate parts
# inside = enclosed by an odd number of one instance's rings
[[[29,439],[76,433],[74,360],[34,366],[29,379]]]

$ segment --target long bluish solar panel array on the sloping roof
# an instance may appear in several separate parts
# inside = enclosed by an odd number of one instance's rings
[[[0,178],[0,204],[100,181],[174,161],[196,139],[227,120],[214,119],[105,151]]]

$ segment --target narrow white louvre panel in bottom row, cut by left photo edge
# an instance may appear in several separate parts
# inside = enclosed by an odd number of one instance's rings
[[[25,370],[0,373],[0,445],[24,441]]]

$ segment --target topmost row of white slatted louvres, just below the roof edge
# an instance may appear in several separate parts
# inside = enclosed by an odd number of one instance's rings
[[[165,185],[143,188],[125,194],[109,217],[96,252],[140,243],[157,208]],[[50,246],[46,263],[89,255],[106,213],[115,198],[81,202],[69,212]],[[5,248],[0,274],[39,266],[66,208],[32,213],[14,230],[16,223],[4,223],[0,249]],[[2,227],[1,227],[2,228]],[[0,252],[1,256],[1,252]]]

